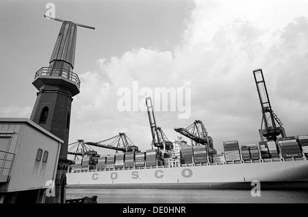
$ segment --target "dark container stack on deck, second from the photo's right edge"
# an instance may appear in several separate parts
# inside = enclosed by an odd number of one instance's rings
[[[283,158],[298,158],[302,156],[295,136],[278,138],[277,144]]]

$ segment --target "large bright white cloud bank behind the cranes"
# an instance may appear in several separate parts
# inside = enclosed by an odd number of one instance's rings
[[[120,112],[116,107],[118,89],[132,88],[138,81],[140,88],[152,89],[192,85],[190,119],[155,113],[171,141],[178,135],[174,127],[201,119],[218,150],[229,139],[257,143],[261,107],[255,68],[264,70],[272,106],[287,122],[285,127],[307,131],[307,9],[306,1],[196,1],[183,43],[175,50],[133,48],[109,61],[100,59],[98,72],[80,76],[70,138],[82,135],[99,141],[121,130],[140,149],[149,148],[146,113]]]

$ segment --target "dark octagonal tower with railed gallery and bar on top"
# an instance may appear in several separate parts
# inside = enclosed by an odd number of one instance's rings
[[[32,82],[38,92],[30,119],[64,141],[57,164],[55,197],[46,197],[45,201],[65,203],[71,105],[73,96],[79,93],[80,87],[79,78],[73,72],[77,26],[87,26],[57,18],[53,20],[62,22],[62,27],[49,60],[49,67],[40,68]]]

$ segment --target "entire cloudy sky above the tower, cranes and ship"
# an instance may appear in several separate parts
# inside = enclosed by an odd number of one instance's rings
[[[37,92],[31,82],[49,66],[61,26],[43,17],[49,2],[56,17],[96,27],[77,31],[81,92],[73,100],[70,143],[125,132],[149,149],[147,113],[118,109],[121,88],[145,106],[133,83],[138,91],[191,89],[190,117],[179,119],[178,108],[155,112],[170,141],[179,136],[175,127],[199,119],[218,151],[222,141],[257,143],[257,68],[287,135],[308,134],[307,0],[0,1],[0,117],[30,117]]]

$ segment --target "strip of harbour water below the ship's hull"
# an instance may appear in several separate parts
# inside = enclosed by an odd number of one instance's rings
[[[67,188],[68,197],[97,195],[97,203],[308,203],[308,191],[205,189],[92,189]],[[258,197],[259,196],[259,197]]]

